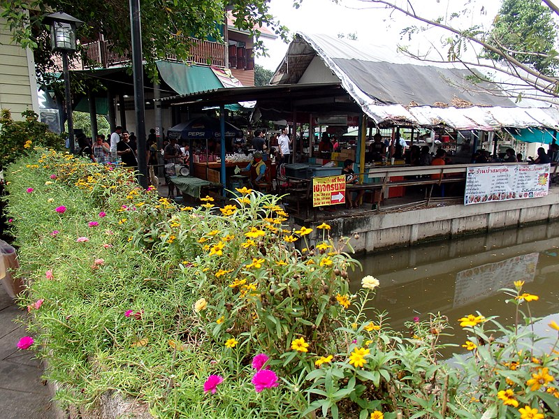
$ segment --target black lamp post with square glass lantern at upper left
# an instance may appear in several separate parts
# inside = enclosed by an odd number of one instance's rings
[[[52,52],[61,52],[62,71],[64,73],[64,93],[66,94],[66,118],[68,120],[68,140],[70,152],[75,153],[74,126],[72,122],[72,97],[70,91],[70,71],[68,70],[68,52],[76,50],[75,29],[83,23],[66,13],[50,13],[43,18],[43,23],[50,25],[50,45]]]

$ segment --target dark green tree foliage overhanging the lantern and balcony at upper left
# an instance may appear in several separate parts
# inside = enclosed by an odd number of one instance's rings
[[[259,27],[266,25],[284,38],[286,28],[269,12],[270,0],[145,0],[141,1],[143,59],[152,79],[157,78],[155,61],[174,55],[187,61],[192,38],[222,40],[220,24],[225,10],[232,10],[235,27],[256,37],[256,50],[263,50]],[[13,38],[34,50],[38,75],[52,71],[49,28],[43,16],[64,11],[85,22],[78,38],[96,39],[101,34],[116,54],[131,51],[128,0],[0,0],[0,17],[7,20]],[[80,54],[80,51],[76,52]]]

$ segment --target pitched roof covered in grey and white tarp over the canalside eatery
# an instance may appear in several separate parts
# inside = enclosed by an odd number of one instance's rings
[[[273,83],[297,83],[315,56],[340,79],[344,89],[377,124],[445,124],[456,129],[493,131],[515,128],[559,128],[559,110],[522,108],[510,98],[484,90],[498,89],[468,81],[467,68],[426,64],[398,50],[335,38],[298,33],[277,68]],[[447,104],[447,105],[445,105]]]

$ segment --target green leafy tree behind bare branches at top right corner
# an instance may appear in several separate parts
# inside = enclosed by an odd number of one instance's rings
[[[487,41],[537,71],[553,75],[558,67],[553,47],[556,38],[553,13],[541,0],[504,0]],[[488,54],[503,59],[494,52]]]

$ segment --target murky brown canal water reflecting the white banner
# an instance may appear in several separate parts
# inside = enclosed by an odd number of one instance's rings
[[[458,318],[468,314],[479,311],[486,317],[499,316],[503,324],[514,324],[514,304],[505,302],[510,297],[500,288],[514,288],[513,282],[522,280],[523,291],[539,296],[530,302],[532,315],[544,317],[535,330],[551,339],[557,336],[548,324],[559,323],[559,222],[372,252],[358,260],[363,276],[372,275],[380,282],[369,307],[387,311],[395,330],[405,332],[406,321],[427,320],[430,313],[440,312],[454,328],[454,337],[445,340],[463,344],[467,333]],[[355,278],[351,291],[356,292],[361,273],[351,278]]]

